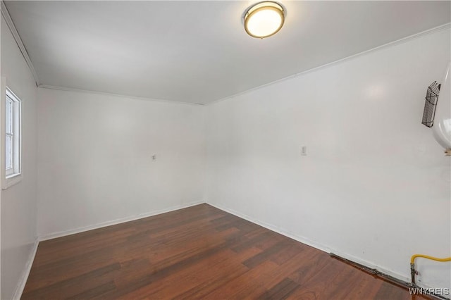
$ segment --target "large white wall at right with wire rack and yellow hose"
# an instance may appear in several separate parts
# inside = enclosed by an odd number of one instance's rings
[[[421,125],[449,59],[448,29],[207,106],[207,201],[410,281],[451,251],[451,159]]]

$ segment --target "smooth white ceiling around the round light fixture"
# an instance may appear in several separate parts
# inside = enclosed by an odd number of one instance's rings
[[[207,104],[450,23],[450,1],[280,1],[249,37],[251,1],[6,1],[42,85]]]

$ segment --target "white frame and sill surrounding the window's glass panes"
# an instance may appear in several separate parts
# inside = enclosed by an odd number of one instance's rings
[[[7,189],[22,180],[22,102],[6,86],[6,79],[1,78],[0,106],[0,177],[1,189]],[[13,102],[13,130],[8,135],[13,137],[13,168],[6,170],[6,101]]]

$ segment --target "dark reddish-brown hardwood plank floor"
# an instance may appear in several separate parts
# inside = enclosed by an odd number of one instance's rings
[[[202,204],[40,242],[22,299],[423,299]]]

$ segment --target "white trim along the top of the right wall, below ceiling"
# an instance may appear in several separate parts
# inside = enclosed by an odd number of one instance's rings
[[[211,104],[216,104],[218,102],[221,102],[221,101],[224,101],[224,100],[227,100],[227,99],[233,99],[233,98],[235,98],[237,96],[241,96],[241,95],[244,95],[244,94],[248,94],[250,92],[254,92],[257,89],[262,89],[262,88],[268,87],[270,85],[275,85],[278,82],[284,82],[285,80],[290,80],[292,78],[295,78],[295,77],[298,77],[298,76],[301,76],[301,75],[305,75],[307,73],[311,73],[311,72],[314,72],[316,70],[321,70],[323,68],[327,68],[327,67],[330,67],[332,65],[337,65],[338,63],[343,63],[345,61],[350,61],[351,59],[357,58],[359,56],[364,56],[364,55],[372,53],[372,52],[383,50],[383,49],[388,48],[390,46],[397,46],[397,45],[400,45],[400,44],[404,44],[406,42],[411,41],[412,39],[418,39],[419,37],[423,37],[424,35],[431,35],[431,34],[433,34],[435,32],[439,32],[439,31],[442,31],[442,30],[447,30],[447,29],[450,29],[450,28],[451,28],[451,23],[446,23],[446,24],[443,24],[443,25],[440,25],[440,26],[437,26],[437,27],[433,27],[431,29],[428,29],[428,30],[416,33],[414,35],[409,35],[408,37],[403,37],[402,39],[397,39],[396,41],[389,42],[387,44],[383,44],[381,46],[376,46],[376,47],[374,47],[372,49],[359,52],[358,54],[353,54],[353,55],[347,56],[345,58],[340,58],[337,61],[332,61],[332,62],[326,63],[324,65],[319,65],[318,67],[311,68],[309,70],[304,70],[304,71],[302,71],[300,73],[296,73],[296,74],[290,75],[288,77],[283,77],[283,78],[281,78],[279,80],[275,80],[273,82],[268,82],[265,85],[259,85],[258,87],[253,87],[252,89],[247,89],[247,90],[245,90],[243,92],[239,92],[239,93],[233,94],[231,96],[226,96],[225,98],[221,98],[221,99],[218,99],[218,100],[215,100],[215,101],[211,101],[211,102],[209,102],[207,104],[204,104],[204,105],[205,106],[209,106]]]

